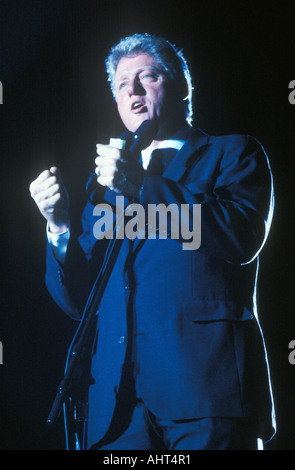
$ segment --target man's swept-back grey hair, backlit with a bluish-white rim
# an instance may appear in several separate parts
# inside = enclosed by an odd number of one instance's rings
[[[105,64],[114,98],[116,99],[115,75],[120,60],[123,57],[134,57],[138,54],[148,54],[153,57],[155,62],[163,68],[167,76],[176,83],[181,99],[186,101],[186,120],[191,124],[193,119],[193,87],[186,59],[182,51],[177,50],[173,44],[161,36],[136,33],[121,39],[111,49]]]

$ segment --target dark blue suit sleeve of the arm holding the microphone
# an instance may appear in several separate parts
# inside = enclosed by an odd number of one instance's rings
[[[187,204],[191,229],[193,205],[201,204],[199,251],[230,263],[248,263],[262,248],[272,219],[268,158],[252,137],[211,137],[206,152],[190,164],[182,181],[146,177],[140,203]]]

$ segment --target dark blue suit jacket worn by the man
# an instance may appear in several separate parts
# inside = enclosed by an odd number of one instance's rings
[[[181,239],[124,240],[99,305],[88,446],[110,424],[126,354],[137,395],[157,416],[254,416],[261,438],[273,433],[255,298],[258,255],[272,217],[268,159],[250,136],[212,137],[189,128],[177,137],[184,135],[164,173],[145,178],[139,202],[201,204],[201,245],[183,250]],[[114,196],[107,191],[108,202]],[[83,233],[72,234],[63,265],[48,247],[48,289],[74,318],[97,270],[96,220],[88,203]]]

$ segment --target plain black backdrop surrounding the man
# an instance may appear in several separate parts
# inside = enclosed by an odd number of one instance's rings
[[[72,208],[81,205],[95,144],[121,131],[104,59],[121,37],[150,32],[183,49],[195,125],[209,134],[252,134],[270,157],[276,208],[258,300],[278,432],[266,448],[294,450],[292,3],[1,1],[1,449],[65,445],[62,419],[54,429],[45,422],[77,324],[45,289],[45,223],[29,184],[56,164]]]

